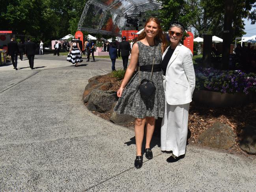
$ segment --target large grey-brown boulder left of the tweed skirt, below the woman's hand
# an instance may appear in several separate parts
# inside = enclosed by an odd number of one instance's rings
[[[84,100],[88,101],[88,110],[104,113],[111,110],[112,104],[118,100],[118,97],[116,91],[93,89]]]

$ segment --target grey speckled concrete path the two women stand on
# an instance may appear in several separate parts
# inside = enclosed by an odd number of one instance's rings
[[[154,138],[154,158],[134,168],[134,132],[86,109],[88,79],[111,71],[108,59],[74,67],[65,56],[36,56],[0,67],[0,191],[256,191],[256,160],[187,146],[169,164]],[[87,64],[88,65],[85,65]],[[117,68],[121,69],[118,60]]]

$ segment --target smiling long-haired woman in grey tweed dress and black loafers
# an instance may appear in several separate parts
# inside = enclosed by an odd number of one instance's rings
[[[164,89],[160,63],[165,47],[166,39],[159,20],[157,18],[149,18],[145,23],[144,32],[139,35],[138,41],[133,45],[131,61],[126,70],[122,84],[117,91],[117,95],[120,98],[114,110],[119,114],[128,114],[136,117],[136,159],[134,163],[136,168],[141,168],[142,166],[142,141],[145,123],[145,156],[151,159],[153,158],[153,153],[150,149],[150,142],[155,129],[155,119],[163,117],[164,115]],[[154,58],[155,63],[152,81],[156,89],[151,96],[145,97],[140,93],[138,87],[142,79],[150,79]],[[133,76],[137,65],[140,66],[139,74],[136,72]],[[143,70],[143,68],[149,70]]]

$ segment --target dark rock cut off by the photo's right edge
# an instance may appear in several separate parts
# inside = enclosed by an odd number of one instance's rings
[[[256,155],[256,127],[243,128],[240,136],[240,148],[249,154]]]

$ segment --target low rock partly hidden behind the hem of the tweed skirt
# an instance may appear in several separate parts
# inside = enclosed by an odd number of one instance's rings
[[[109,120],[118,125],[127,125],[129,123],[132,123],[135,120],[135,117],[114,112],[114,107],[116,106],[116,103],[117,101],[112,104]]]

